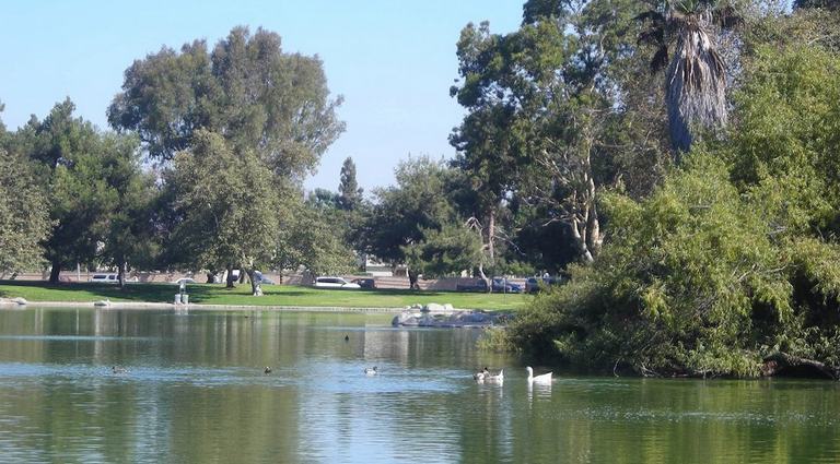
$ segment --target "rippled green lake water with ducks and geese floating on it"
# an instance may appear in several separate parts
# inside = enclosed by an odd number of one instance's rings
[[[0,462],[840,462],[837,382],[529,386],[477,330],[389,320],[0,310]],[[482,366],[504,383],[472,381]]]

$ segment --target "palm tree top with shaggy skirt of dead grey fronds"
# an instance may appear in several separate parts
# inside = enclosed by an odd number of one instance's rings
[[[652,71],[667,64],[665,106],[677,155],[691,148],[698,129],[726,124],[726,75],[716,32],[737,24],[733,12],[719,0],[657,0],[652,10],[637,16],[648,26],[639,43],[656,47]]]

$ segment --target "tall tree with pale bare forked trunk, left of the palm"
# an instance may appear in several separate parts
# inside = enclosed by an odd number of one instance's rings
[[[568,224],[581,259],[591,262],[602,242],[592,157],[611,102],[598,88],[591,40],[571,34],[576,16],[558,8],[560,16],[526,10],[533,23],[509,35],[490,34],[487,24],[464,28],[463,84],[451,93],[470,114],[453,142],[491,213],[488,236],[494,236],[492,213],[505,194],[527,190],[552,205],[545,222]]]

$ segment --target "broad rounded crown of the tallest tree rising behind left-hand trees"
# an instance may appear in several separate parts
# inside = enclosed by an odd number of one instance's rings
[[[283,52],[280,36],[235,27],[210,52],[196,40],[164,47],[126,70],[108,108],[118,130],[137,131],[155,159],[189,147],[197,130],[254,151],[281,177],[300,179],[343,131],[317,57]]]

